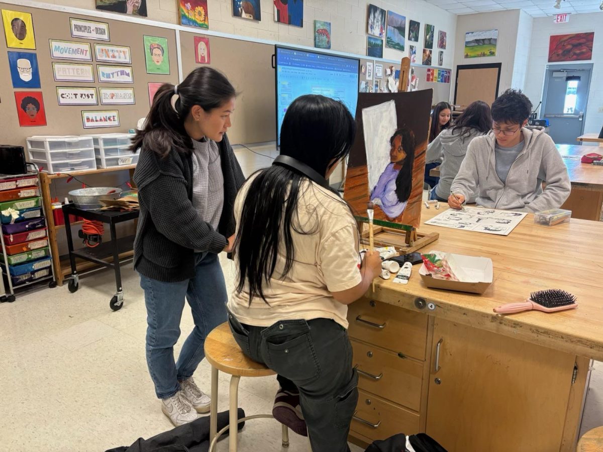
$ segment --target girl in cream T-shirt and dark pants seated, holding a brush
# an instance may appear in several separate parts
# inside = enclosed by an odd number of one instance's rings
[[[381,271],[378,253],[359,258],[355,219],[327,182],[355,130],[342,102],[295,99],[279,157],[245,182],[235,202],[230,328],[247,356],[277,372],[273,415],[309,435],[314,452],[349,450],[358,374],[347,304]]]

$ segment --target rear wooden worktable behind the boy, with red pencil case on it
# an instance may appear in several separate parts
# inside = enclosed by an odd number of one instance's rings
[[[597,148],[557,145],[557,149],[563,157],[572,183],[572,193],[561,209],[571,210],[573,218],[599,221],[603,204],[603,166],[580,162],[582,155],[596,152]],[[440,177],[440,167],[437,166],[429,171],[429,175]]]

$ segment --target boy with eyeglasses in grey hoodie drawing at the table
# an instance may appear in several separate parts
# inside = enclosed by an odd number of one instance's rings
[[[450,186],[450,207],[462,209],[473,195],[488,209],[539,212],[561,207],[571,190],[567,168],[543,128],[526,127],[531,109],[529,99],[514,89],[493,102],[492,130],[469,144]]]

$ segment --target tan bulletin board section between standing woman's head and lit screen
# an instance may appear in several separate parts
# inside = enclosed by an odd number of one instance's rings
[[[195,62],[195,36],[209,40],[209,64]],[[180,49],[183,78],[195,67],[212,66],[239,92],[228,131],[230,143],[276,140],[274,45],[181,31]]]

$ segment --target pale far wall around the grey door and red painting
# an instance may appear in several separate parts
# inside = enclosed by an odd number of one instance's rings
[[[552,35],[588,33],[590,31],[595,32],[592,60],[551,64],[593,63],[589,103],[584,118],[584,133],[599,133],[603,126],[603,13],[572,14],[570,21],[566,24],[554,24],[551,17],[534,19],[525,93],[534,107],[542,100],[545,70],[549,64],[549,38]]]

